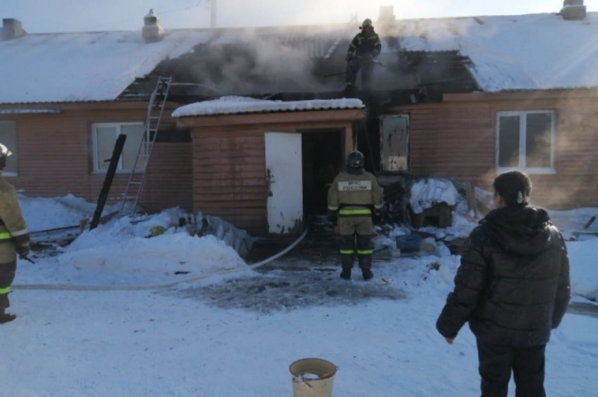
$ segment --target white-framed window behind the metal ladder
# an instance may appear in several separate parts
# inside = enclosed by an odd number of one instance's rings
[[[124,134],[127,140],[124,142],[123,154],[118,161],[117,170],[131,172],[135,166],[141,140],[144,136],[143,123],[101,123],[93,124],[93,170],[94,172],[105,172],[110,165],[114,143],[118,135]],[[145,167],[145,158],[139,158],[137,169],[140,171]]]

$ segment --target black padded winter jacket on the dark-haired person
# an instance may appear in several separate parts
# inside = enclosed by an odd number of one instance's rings
[[[486,343],[545,344],[569,303],[565,240],[545,210],[492,210],[466,240],[454,283],[436,324],[444,337],[469,322]]]

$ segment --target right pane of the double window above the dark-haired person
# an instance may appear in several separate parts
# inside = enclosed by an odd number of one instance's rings
[[[551,113],[527,114],[526,167],[551,167],[552,118]]]

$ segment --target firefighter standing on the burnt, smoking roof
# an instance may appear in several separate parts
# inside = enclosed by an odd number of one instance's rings
[[[351,44],[349,44],[349,50],[347,50],[347,56],[345,57],[347,71],[344,90],[346,92],[355,89],[355,80],[360,68],[361,81],[364,84],[364,88],[369,87],[374,59],[382,51],[380,36],[374,32],[371,19],[364,20],[359,29],[361,29],[361,32],[357,33]]]

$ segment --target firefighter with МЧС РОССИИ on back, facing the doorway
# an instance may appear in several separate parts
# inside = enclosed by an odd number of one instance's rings
[[[374,276],[371,271],[372,216],[381,217],[383,207],[382,188],[376,176],[365,172],[364,155],[350,152],[345,169],[334,178],[328,190],[328,219],[332,224],[338,222],[341,236],[342,279],[351,278],[355,254],[364,280]]]

